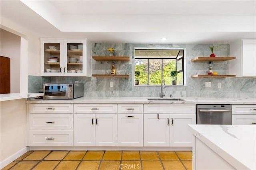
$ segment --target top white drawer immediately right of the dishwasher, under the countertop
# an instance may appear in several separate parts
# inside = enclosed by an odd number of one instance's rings
[[[256,105],[232,105],[233,115],[256,115]]]

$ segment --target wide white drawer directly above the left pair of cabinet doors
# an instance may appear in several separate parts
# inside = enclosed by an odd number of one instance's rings
[[[117,113],[116,104],[74,104],[74,113]]]

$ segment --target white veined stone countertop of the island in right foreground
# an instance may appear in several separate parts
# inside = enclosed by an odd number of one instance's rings
[[[189,130],[236,169],[256,169],[255,125],[188,125]]]

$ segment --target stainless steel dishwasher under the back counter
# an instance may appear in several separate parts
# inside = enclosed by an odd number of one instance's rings
[[[196,124],[231,125],[232,105],[196,105]]]

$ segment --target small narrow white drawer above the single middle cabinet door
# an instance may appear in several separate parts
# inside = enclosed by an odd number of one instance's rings
[[[143,104],[118,104],[117,113],[142,114]]]

